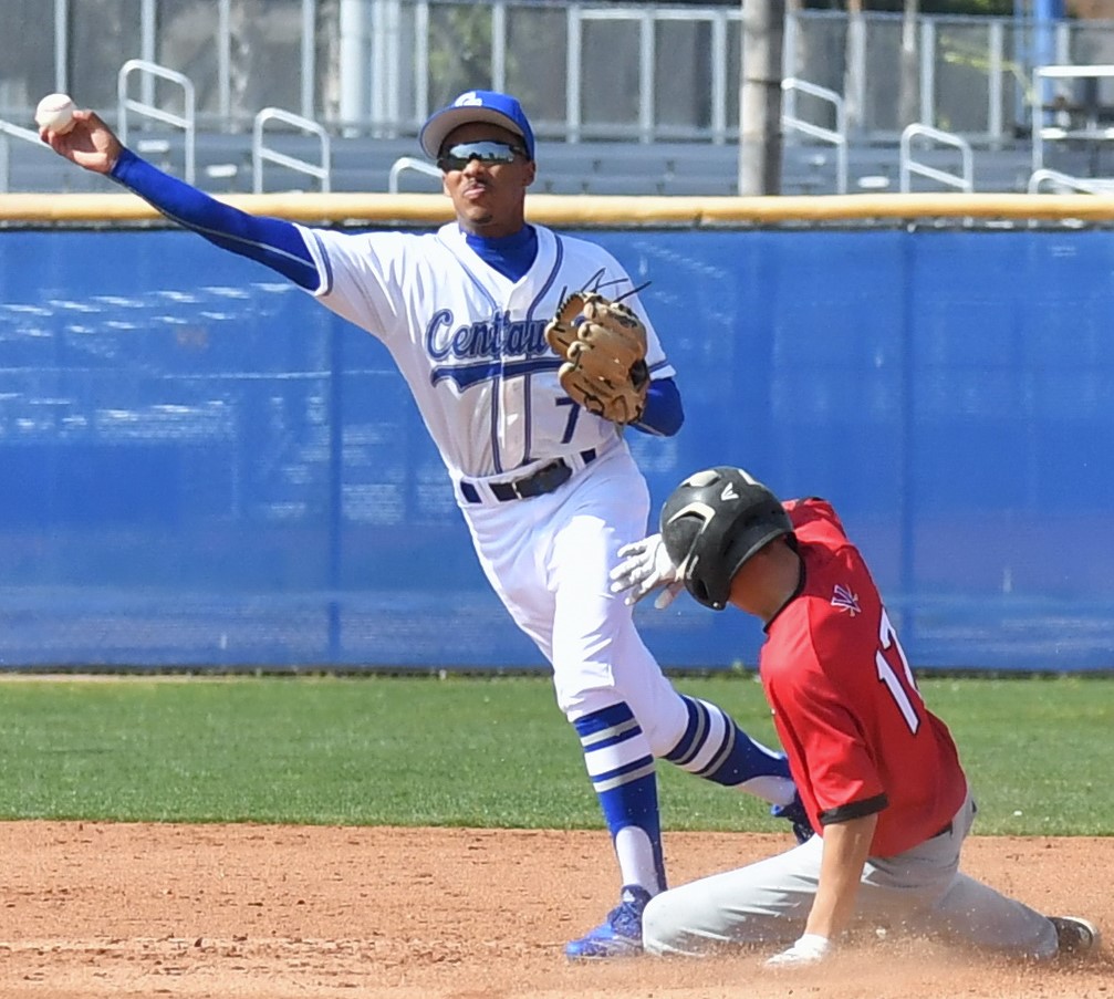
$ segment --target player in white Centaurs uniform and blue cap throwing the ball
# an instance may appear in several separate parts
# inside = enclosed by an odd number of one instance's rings
[[[655,758],[737,786],[808,823],[784,755],[721,708],[677,693],[609,591],[619,547],[642,538],[646,482],[623,429],[573,404],[544,331],[563,296],[625,296],[648,332],[651,384],[632,424],[673,434],[683,421],[673,369],[631,278],[603,248],[527,224],[535,140],[519,102],[463,94],[420,143],[442,169],[456,221],[437,232],[345,233],[253,216],[126,149],[92,111],[58,154],[105,174],[164,215],[284,274],[379,337],[407,380],[452,481],[488,580],[553,665],[613,838],[622,900],[568,944],[570,958],[636,953],[642,910],[666,887]]]

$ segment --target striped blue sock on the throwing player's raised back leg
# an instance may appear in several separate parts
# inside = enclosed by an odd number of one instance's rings
[[[665,760],[706,781],[740,787],[774,805],[793,801],[795,787],[784,753],[755,742],[723,708],[685,694],[681,699],[688,708],[688,725]]]

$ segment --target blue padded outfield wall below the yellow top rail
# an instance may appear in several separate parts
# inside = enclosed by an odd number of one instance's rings
[[[709,464],[823,494],[921,668],[1114,667],[1114,234],[593,232]],[[543,666],[378,342],[176,231],[0,233],[0,664]],[[761,631],[638,608],[671,667]]]

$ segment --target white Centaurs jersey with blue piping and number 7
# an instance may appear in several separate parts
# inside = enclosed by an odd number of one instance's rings
[[[300,228],[321,276],[317,297],[391,352],[453,481],[602,451],[622,432],[573,404],[544,333],[569,292],[632,290],[607,251],[535,226],[537,257],[511,281],[472,252],[456,222],[429,234]],[[652,376],[672,376],[637,296],[624,302],[646,324]]]

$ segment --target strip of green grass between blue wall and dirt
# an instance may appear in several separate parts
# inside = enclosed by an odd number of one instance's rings
[[[683,677],[774,743],[753,676]],[[981,834],[1114,834],[1114,678],[926,678]],[[543,677],[101,677],[0,683],[0,819],[599,827]],[[671,830],[776,826],[676,771]]]

